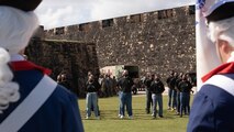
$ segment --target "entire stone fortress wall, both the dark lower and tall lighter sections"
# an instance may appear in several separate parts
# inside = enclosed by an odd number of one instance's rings
[[[79,90],[83,89],[88,70],[99,74],[98,68],[111,65],[137,65],[141,75],[158,73],[163,80],[171,69],[196,73],[194,6],[44,32],[42,28],[34,38],[29,53],[35,56],[33,54],[40,50],[43,56],[38,54],[31,59],[53,68],[55,74],[63,68],[68,69],[71,78],[75,78],[73,84]]]

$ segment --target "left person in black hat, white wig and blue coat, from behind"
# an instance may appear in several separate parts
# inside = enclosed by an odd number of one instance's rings
[[[0,0],[0,132],[83,132],[77,97],[22,56],[41,0]]]

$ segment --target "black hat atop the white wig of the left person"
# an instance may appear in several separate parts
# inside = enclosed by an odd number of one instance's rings
[[[42,0],[0,0],[0,6],[9,6],[23,11],[33,11]]]

